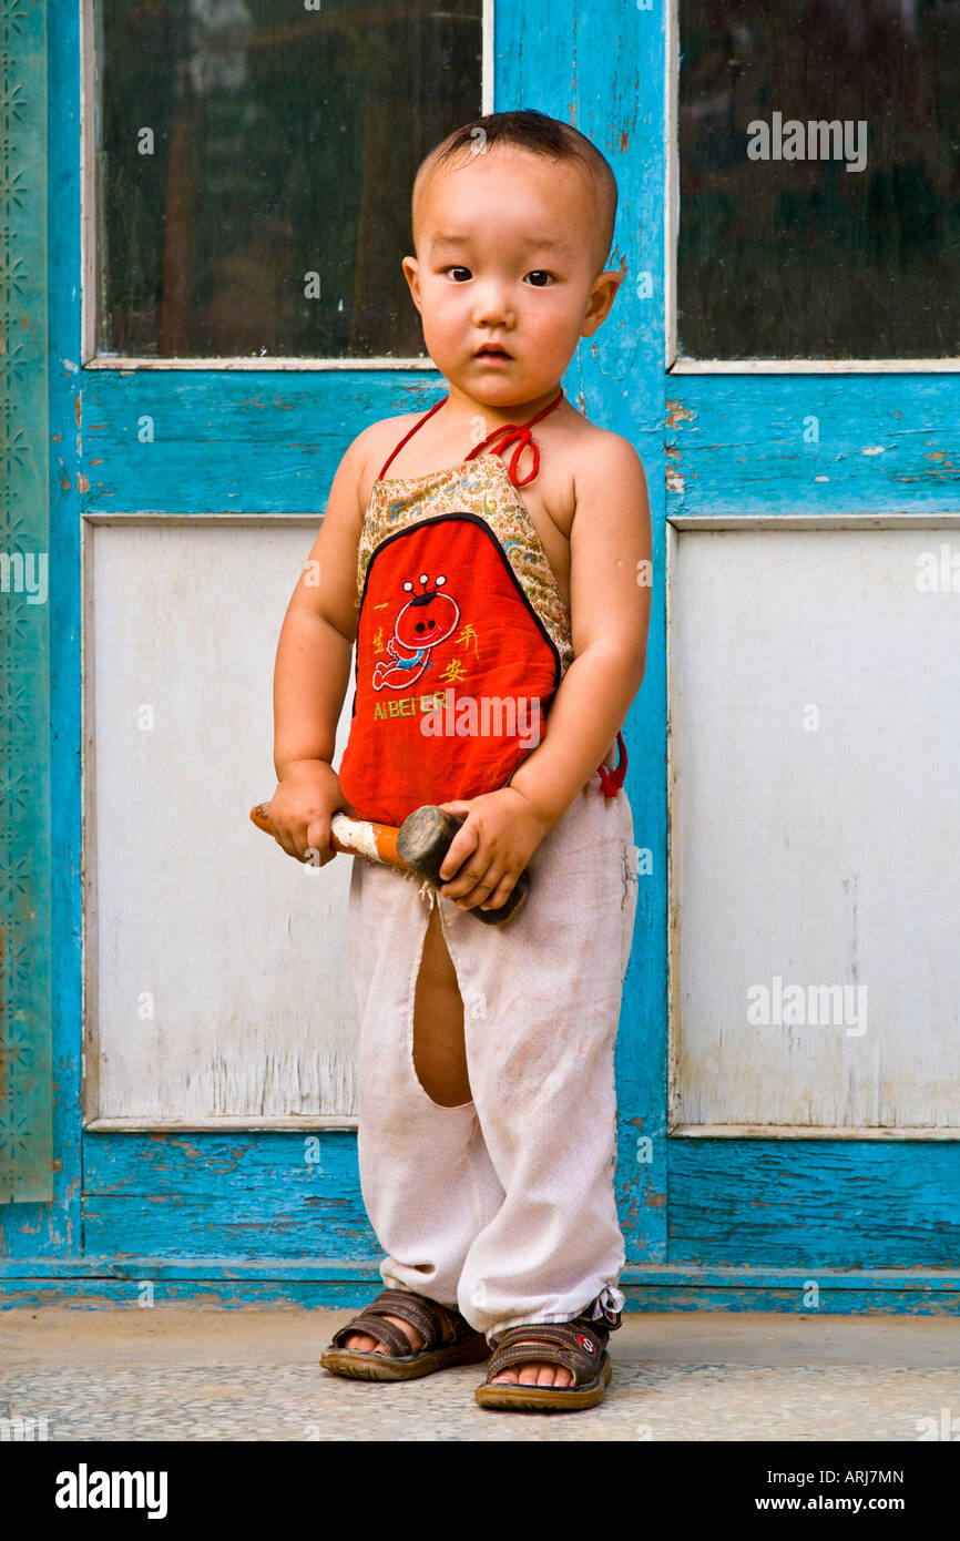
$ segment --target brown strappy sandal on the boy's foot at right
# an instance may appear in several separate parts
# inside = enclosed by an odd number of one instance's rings
[[[593,1322],[582,1314],[572,1322],[509,1327],[504,1333],[498,1333],[487,1379],[473,1395],[481,1407],[496,1407],[501,1412],[549,1413],[596,1407],[613,1373],[607,1338],[616,1327],[619,1314],[613,1324],[609,1318],[604,1322]],[[513,1365],[538,1362],[558,1364],[570,1370],[573,1385],[519,1385],[510,1381],[490,1384]]]

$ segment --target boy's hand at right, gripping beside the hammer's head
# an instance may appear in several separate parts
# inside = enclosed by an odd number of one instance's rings
[[[441,865],[441,894],[462,909],[499,909],[550,828],[512,786],[453,803],[447,814],[465,815]]]

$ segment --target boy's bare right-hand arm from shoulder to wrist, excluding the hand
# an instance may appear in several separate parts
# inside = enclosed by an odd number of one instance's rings
[[[510,780],[547,828],[587,784],[643,683],[650,626],[650,505],[636,450],[612,438],[576,473],[570,530],[573,663],[547,730]]]

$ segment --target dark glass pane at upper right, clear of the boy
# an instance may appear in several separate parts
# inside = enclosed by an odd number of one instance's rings
[[[680,0],[680,354],[960,353],[960,3]]]

